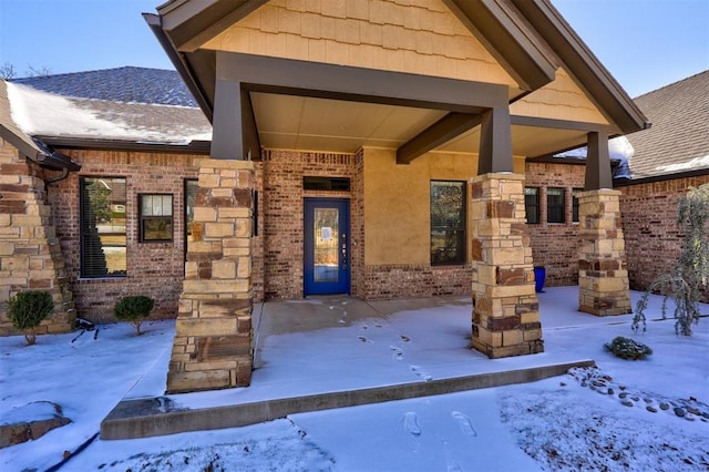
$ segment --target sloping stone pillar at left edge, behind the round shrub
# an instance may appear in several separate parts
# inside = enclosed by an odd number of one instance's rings
[[[18,150],[0,140],[0,335],[17,335],[7,318],[7,301],[19,291],[44,290],[54,300],[53,314],[37,332],[69,332],[76,312],[64,257],[45,202],[39,170]]]

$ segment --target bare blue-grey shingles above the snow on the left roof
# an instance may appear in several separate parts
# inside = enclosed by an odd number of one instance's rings
[[[66,98],[197,106],[177,72],[162,69],[124,66],[14,79],[11,82]]]

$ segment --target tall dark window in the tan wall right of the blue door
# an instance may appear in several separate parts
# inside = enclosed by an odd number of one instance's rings
[[[465,183],[431,182],[431,265],[465,263]]]

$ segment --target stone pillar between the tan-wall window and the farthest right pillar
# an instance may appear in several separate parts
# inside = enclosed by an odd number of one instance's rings
[[[524,175],[474,177],[471,197],[472,345],[492,359],[543,352]]]

